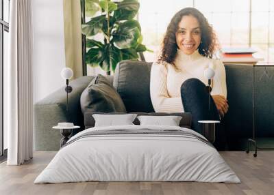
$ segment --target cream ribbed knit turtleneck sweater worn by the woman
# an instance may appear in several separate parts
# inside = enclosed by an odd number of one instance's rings
[[[192,55],[185,55],[182,50],[177,50],[175,66],[170,63],[153,63],[151,67],[150,95],[155,112],[184,112],[182,83],[188,78],[198,78],[208,85],[203,74],[207,67],[212,67],[215,71],[211,95],[227,97],[225,67],[221,61],[203,57],[198,50]]]

